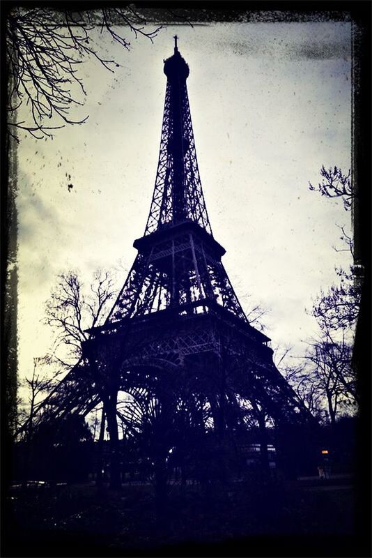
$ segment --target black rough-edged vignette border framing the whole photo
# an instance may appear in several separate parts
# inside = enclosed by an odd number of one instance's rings
[[[123,6],[129,2],[104,1],[106,5]],[[5,20],[13,6],[73,6],[94,9],[100,1],[15,1],[1,2],[1,65],[6,71]],[[357,264],[364,269],[362,304],[355,336],[354,361],[359,375],[362,404],[357,430],[357,460],[355,466],[357,520],[353,536],[254,536],[217,545],[183,545],[157,548],[153,552],[126,553],[129,556],[257,556],[257,557],[370,557],[371,549],[371,1],[147,1],[135,2],[151,19],[160,22],[352,22],[352,176],[359,202],[354,206],[354,239]],[[172,18],[171,10],[174,14]],[[175,21],[177,18],[177,21]],[[1,80],[3,105],[6,104],[7,79]],[[42,548],[6,548],[6,515],[4,496],[10,479],[11,427],[17,397],[17,150],[6,139],[6,110],[1,112],[3,140],[3,186],[1,188],[1,527],[3,556],[123,556],[122,550],[89,548],[83,541],[65,541],[56,548],[55,541],[45,540]],[[74,548],[72,552],[71,549]]]

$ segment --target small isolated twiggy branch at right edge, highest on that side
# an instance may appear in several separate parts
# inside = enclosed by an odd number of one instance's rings
[[[322,181],[318,183],[318,186],[313,186],[309,182],[310,190],[320,192],[325,197],[341,197],[344,208],[346,211],[349,211],[352,206],[353,197],[350,169],[348,174],[343,174],[339,167],[326,169],[323,165],[320,169],[320,175],[322,176]]]

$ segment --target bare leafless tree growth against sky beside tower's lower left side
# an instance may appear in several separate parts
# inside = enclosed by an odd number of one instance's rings
[[[59,386],[61,379],[77,363],[82,342],[88,339],[86,329],[100,323],[116,296],[114,274],[95,271],[90,285],[85,286],[76,272],[61,273],[46,303],[44,322],[55,333],[54,344],[45,356],[34,359],[33,375],[24,380],[29,401],[20,401],[17,437],[31,439],[33,426]],[[97,428],[97,425],[96,425]]]

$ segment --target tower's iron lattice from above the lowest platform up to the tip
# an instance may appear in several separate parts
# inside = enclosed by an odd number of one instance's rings
[[[186,79],[178,48],[164,63],[167,76],[160,156],[150,214],[139,251],[107,324],[177,308],[207,312],[214,303],[247,321],[213,238],[196,160]]]

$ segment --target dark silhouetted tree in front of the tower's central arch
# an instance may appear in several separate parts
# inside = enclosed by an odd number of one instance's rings
[[[146,387],[128,391],[118,405],[127,458],[137,460],[142,474],[153,481],[161,507],[173,469],[179,467],[183,479],[190,474],[194,442],[205,437],[210,409],[205,398],[193,393],[192,379],[164,371],[153,370]]]

